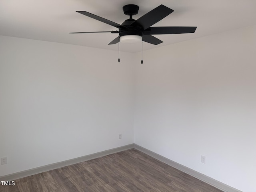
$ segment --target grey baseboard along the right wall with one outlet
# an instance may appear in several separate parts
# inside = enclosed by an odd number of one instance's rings
[[[170,165],[170,166],[172,166],[172,167],[174,167],[174,168],[176,168],[176,169],[178,169],[182,172],[185,172],[186,174],[189,174],[189,175],[191,175],[191,176],[193,176],[193,177],[195,177],[195,178],[197,178],[197,179],[199,179],[203,182],[206,182],[206,183],[208,183],[208,184],[210,184],[210,185],[212,185],[212,186],[214,186],[214,187],[216,187],[216,188],[218,188],[218,189],[220,189],[224,192],[242,192],[242,191],[237,190],[237,189],[235,189],[231,186],[228,186],[228,185],[226,185],[222,182],[219,182],[219,181],[217,181],[213,178],[210,178],[210,177],[208,177],[204,174],[201,174],[201,173],[199,173],[195,170],[192,170],[192,169],[190,169],[186,166],[178,164],[178,163],[176,163],[176,162],[174,162],[174,161],[172,161],[168,158],[165,158],[164,156],[156,154],[155,152],[152,152],[152,151],[150,151],[146,148],[143,148],[143,147],[141,147],[137,144],[134,144],[134,148],[143,152],[143,153],[145,153],[145,154],[148,154],[149,156],[151,156],[151,157],[153,157],[153,158],[155,158],[155,159],[157,159],[161,162],[164,162],[164,163],[166,163],[166,164],[168,164],[168,165]]]

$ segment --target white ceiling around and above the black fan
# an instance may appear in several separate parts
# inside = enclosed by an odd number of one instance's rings
[[[108,45],[117,34],[68,34],[117,28],[76,11],[87,11],[118,24],[129,16],[122,7],[136,4],[134,19],[163,4],[174,10],[154,26],[197,26],[194,34],[154,35],[164,41],[143,44],[143,50],[256,24],[256,0],[0,0],[0,35],[118,50]],[[140,52],[141,43],[122,44],[120,50]]]

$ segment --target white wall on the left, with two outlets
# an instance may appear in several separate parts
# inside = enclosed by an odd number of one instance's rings
[[[120,57],[0,36],[0,176],[132,144],[134,65]]]

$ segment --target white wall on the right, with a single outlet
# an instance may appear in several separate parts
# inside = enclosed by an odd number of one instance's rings
[[[136,65],[134,143],[255,192],[256,26],[148,50],[143,57]]]

